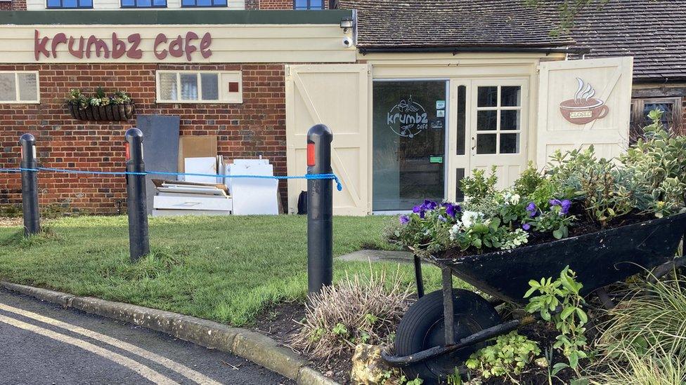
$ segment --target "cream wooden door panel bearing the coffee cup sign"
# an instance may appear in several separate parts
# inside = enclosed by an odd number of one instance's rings
[[[604,158],[617,156],[626,149],[632,73],[633,58],[541,63],[537,166],[545,167],[548,156],[556,149],[565,151],[593,144],[597,156]],[[590,84],[595,94],[589,100],[597,100],[595,104],[602,101],[602,104],[588,109],[576,108],[574,114],[578,117],[570,122],[563,116],[560,104],[569,100],[568,103],[574,102],[579,87],[577,78],[584,82],[582,93]],[[590,91],[586,95],[590,95]]]

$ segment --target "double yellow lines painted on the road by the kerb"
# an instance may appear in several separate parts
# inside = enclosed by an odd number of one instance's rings
[[[115,346],[119,349],[122,349],[124,351],[128,351],[129,353],[135,354],[136,356],[139,356],[141,358],[145,358],[146,360],[153,361],[154,363],[157,363],[159,365],[162,365],[164,367],[167,367],[169,370],[173,370],[174,372],[177,372],[181,374],[183,377],[186,377],[187,379],[190,379],[191,381],[197,383],[197,384],[208,384],[208,385],[219,385],[221,383],[214,381],[213,379],[205,376],[205,374],[202,374],[200,372],[197,372],[193,369],[190,369],[190,367],[187,367],[185,365],[181,365],[180,363],[176,363],[173,360],[170,360],[169,358],[160,356],[158,354],[155,354],[153,352],[147,351],[145,349],[141,349],[140,347],[129,344],[128,342],[124,342],[122,340],[103,335],[98,332],[93,332],[93,330],[88,330],[85,329],[84,327],[79,327],[77,325],[72,325],[70,323],[65,323],[60,320],[56,320],[53,318],[48,318],[46,316],[41,316],[40,314],[37,313],[32,313],[31,311],[25,311],[22,309],[15,308],[13,306],[8,306],[6,304],[0,304],[0,310],[2,311],[7,311],[9,313],[15,313],[20,316],[24,316],[26,318],[31,318],[33,320],[37,320],[41,323],[46,323],[48,325],[52,325],[55,327],[60,327],[61,329],[64,330],[69,330],[70,332],[83,335],[85,337],[89,337],[92,339],[96,339],[99,342],[104,342],[105,344],[109,344],[111,346]],[[163,374],[160,374],[159,372],[156,372],[153,369],[150,369],[150,367],[145,366],[141,363],[138,363],[136,360],[132,360],[131,358],[122,356],[119,353],[115,353],[114,351],[110,351],[108,349],[104,349],[101,346],[97,346],[94,344],[91,344],[90,342],[84,341],[83,339],[78,339],[75,337],[70,337],[68,335],[63,335],[61,333],[55,332],[53,330],[46,329],[44,327],[39,327],[37,325],[32,325],[30,323],[25,323],[21,320],[16,320],[14,318],[8,317],[8,316],[2,316],[0,315],[0,322],[1,323],[6,323],[7,325],[11,325],[14,327],[18,327],[22,330],[27,330],[30,332],[34,332],[37,335],[42,335],[44,337],[48,337],[51,339],[54,339],[59,342],[63,342],[65,344],[70,344],[73,346],[77,346],[81,349],[84,349],[85,351],[89,351],[91,353],[97,354],[98,356],[101,356],[103,358],[107,358],[108,360],[112,360],[113,362],[122,365],[124,367],[127,367],[130,370],[133,370],[134,372],[140,374],[142,377],[145,379],[148,379],[149,381],[154,382],[155,384],[177,384],[176,381],[170,379],[169,377],[164,376]]]

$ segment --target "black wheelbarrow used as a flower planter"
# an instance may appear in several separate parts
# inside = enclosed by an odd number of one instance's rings
[[[502,302],[526,304],[529,281],[555,277],[565,266],[576,271],[582,295],[600,291],[644,269],[656,276],[686,264],[675,252],[686,231],[686,213],[583,234],[550,243],[451,258],[451,252],[427,258],[442,271],[440,291],[424,295],[422,266],[415,256],[418,302],[410,306],[396,331],[390,365],[409,377],[432,384],[451,374],[486,340],[506,334],[533,317],[502,323],[491,302],[468,290],[453,289],[453,276]],[[444,316],[445,315],[445,316]]]

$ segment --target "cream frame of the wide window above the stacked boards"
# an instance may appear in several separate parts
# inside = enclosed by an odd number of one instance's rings
[[[179,100],[165,100],[162,99],[160,90],[160,76],[162,74],[176,74],[176,95],[179,95]],[[198,76],[198,100],[181,100],[181,74],[196,74]],[[217,87],[219,92],[219,99],[217,100],[202,100],[202,74],[216,74]],[[238,100],[231,100],[226,97],[228,92],[222,89],[225,83],[222,81],[224,76],[238,75]],[[242,104],[243,102],[243,84],[241,71],[196,71],[193,69],[159,69],[155,72],[155,102],[168,104]]]

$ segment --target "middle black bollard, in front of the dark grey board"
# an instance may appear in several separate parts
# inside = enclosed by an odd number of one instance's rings
[[[143,133],[129,128],[127,140],[127,172],[144,173]],[[150,253],[148,208],[145,203],[145,175],[127,175],[127,212],[129,213],[129,251],[131,262]]]

